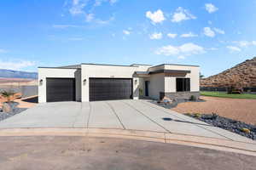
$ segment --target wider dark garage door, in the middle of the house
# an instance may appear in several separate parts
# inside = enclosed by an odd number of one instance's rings
[[[131,78],[90,78],[90,101],[131,99]]]

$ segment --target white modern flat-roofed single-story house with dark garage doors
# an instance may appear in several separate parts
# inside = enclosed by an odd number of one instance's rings
[[[38,68],[38,101],[199,97],[197,65],[81,64]]]

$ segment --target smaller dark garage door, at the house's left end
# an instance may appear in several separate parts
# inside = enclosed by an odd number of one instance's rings
[[[75,79],[74,78],[46,78],[47,102],[74,101]]]

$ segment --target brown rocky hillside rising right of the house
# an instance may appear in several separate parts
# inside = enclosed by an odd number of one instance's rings
[[[226,71],[201,79],[201,87],[256,87],[256,57]]]

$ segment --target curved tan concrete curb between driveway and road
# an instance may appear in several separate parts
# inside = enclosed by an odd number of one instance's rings
[[[84,136],[135,139],[166,144],[183,144],[256,156],[256,144],[175,133],[156,133],[138,130],[106,128],[6,128],[0,129],[0,136]]]

